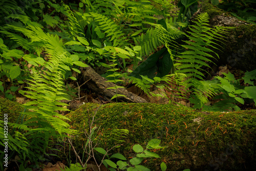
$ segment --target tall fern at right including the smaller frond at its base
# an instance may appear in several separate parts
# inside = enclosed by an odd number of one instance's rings
[[[212,62],[211,58],[215,58],[209,52],[219,57],[217,53],[208,47],[218,49],[216,47],[218,44],[215,41],[221,42],[217,37],[224,37],[218,32],[225,33],[222,27],[217,27],[216,29],[207,27],[208,18],[207,13],[199,14],[197,21],[194,22],[196,25],[189,27],[189,35],[186,35],[189,40],[184,41],[186,45],[181,45],[187,50],[179,54],[179,58],[181,59],[177,60],[176,63],[177,72],[187,75],[188,79],[186,82],[188,83],[188,87],[194,87],[194,94],[198,99],[201,99],[200,105],[208,102],[207,97],[212,97],[213,94],[218,93],[215,89],[207,86],[207,83],[199,80],[204,79],[203,72],[206,71],[203,68],[210,68],[207,62]]]

